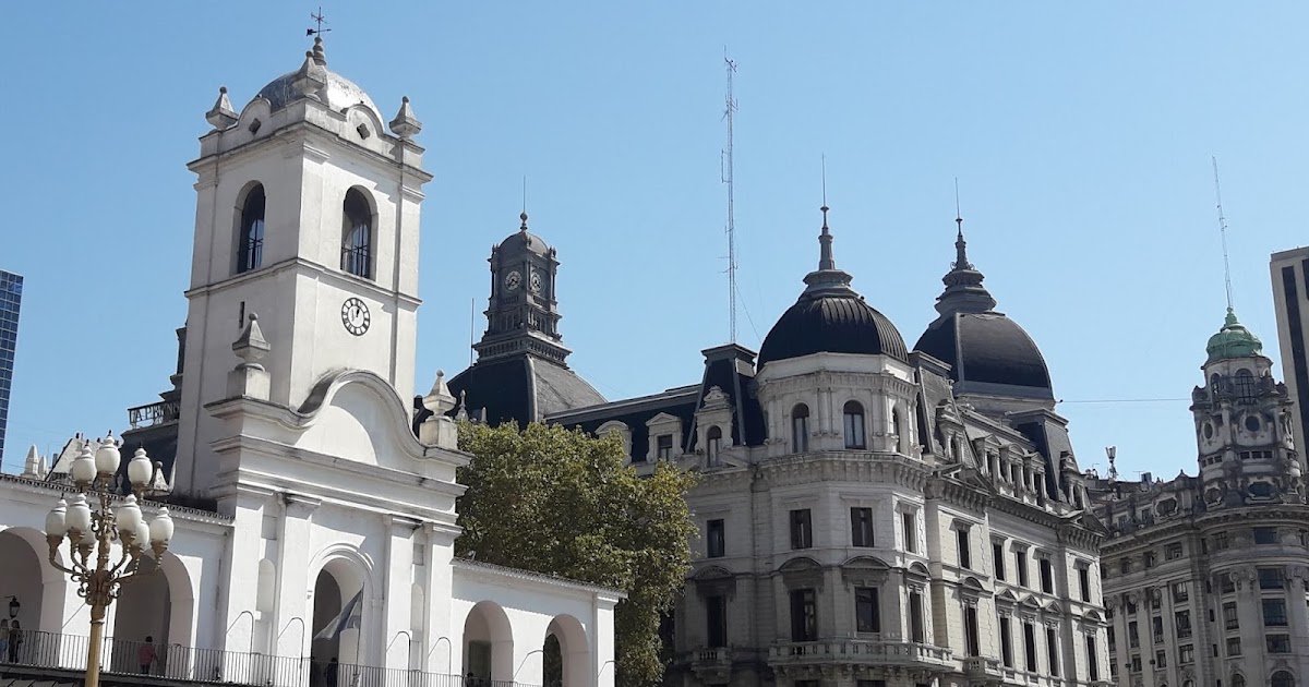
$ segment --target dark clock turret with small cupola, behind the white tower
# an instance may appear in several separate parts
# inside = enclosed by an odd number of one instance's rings
[[[528,230],[528,213],[518,230],[491,249],[491,302],[487,330],[474,345],[478,360],[531,353],[563,364],[568,348],[559,334],[555,249]]]

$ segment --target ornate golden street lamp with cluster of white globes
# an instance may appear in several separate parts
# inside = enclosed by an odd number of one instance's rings
[[[46,542],[50,544],[50,564],[67,573],[77,584],[77,595],[90,606],[90,649],[86,654],[85,687],[99,686],[99,650],[105,635],[105,612],[118,598],[122,585],[139,580],[147,573],[140,572],[145,548],[154,554],[154,571],[158,572],[160,556],[168,551],[173,539],[173,518],[168,508],[160,506],[158,514],[149,523],[141,514],[137,497],[149,493],[154,471],[162,465],[151,463],[145,449],[127,463],[127,479],[132,493],[123,497],[118,508],[110,510],[115,500],[113,493],[114,476],[122,454],[118,442],[110,434],[90,453],[90,442],[82,445],[81,453],[73,459],[68,474],[77,492],[68,500],[63,497],[46,516]],[[94,505],[90,497],[98,501]],[[68,539],[68,565],[59,563],[59,546]],[[110,564],[114,542],[122,542],[118,563]],[[93,556],[94,554],[94,556]],[[13,603],[9,605],[13,608]]]

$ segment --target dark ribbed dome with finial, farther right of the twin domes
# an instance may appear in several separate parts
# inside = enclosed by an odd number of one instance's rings
[[[954,221],[954,264],[941,277],[945,291],[936,298],[940,317],[914,349],[949,364],[961,393],[1054,398],[1045,356],[1017,322],[995,310],[982,272],[969,262],[963,217]]]

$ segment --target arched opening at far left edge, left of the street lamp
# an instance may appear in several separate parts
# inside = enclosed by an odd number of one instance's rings
[[[45,632],[59,632],[64,614],[64,574],[45,556],[46,537],[27,527],[0,531],[0,618],[17,622],[17,641],[10,639],[12,656],[0,661],[35,661],[43,653],[56,652],[54,639]],[[18,602],[9,618],[9,602]]]

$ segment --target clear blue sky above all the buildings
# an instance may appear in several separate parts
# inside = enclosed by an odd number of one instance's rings
[[[194,177],[219,85],[240,109],[298,67],[309,5],[21,3],[0,24],[0,268],[25,275],[4,465],[127,424],[173,372]],[[487,255],[559,250],[564,343],[611,399],[699,378],[728,336],[724,47],[736,92],[740,342],[817,260],[912,344],[970,258],[1042,347],[1084,467],[1194,471],[1187,398],[1224,313],[1279,360],[1268,254],[1304,243],[1304,3],[323,3],[330,68],[390,116],[408,96],[436,179],[419,379],[469,361]],[[483,321],[478,315],[478,336]],[[1280,366],[1278,368],[1280,377]],[[1089,400],[1130,399],[1123,403]],[[1141,400],[1170,399],[1170,400]]]

